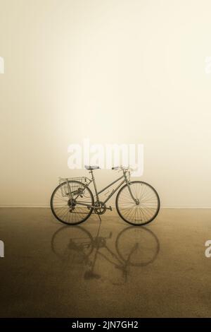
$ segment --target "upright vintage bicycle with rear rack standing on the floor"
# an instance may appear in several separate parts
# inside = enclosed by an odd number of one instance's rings
[[[97,191],[94,170],[98,166],[84,166],[91,174],[88,177],[72,177],[59,180],[59,184],[51,195],[51,211],[53,215],[66,225],[78,225],[87,220],[94,211],[99,218],[107,210],[112,211],[111,206],[107,207],[108,200],[117,192],[115,206],[120,217],[131,225],[146,225],[151,223],[160,210],[160,198],[157,191],[146,182],[130,181],[132,169],[128,167],[112,167],[112,170],[120,170],[122,176],[114,182]],[[100,201],[99,195],[116,182],[122,182],[111,191],[105,201]],[[94,193],[89,188],[94,184]],[[124,186],[122,186],[124,184]],[[120,188],[121,187],[121,188]],[[95,200],[94,200],[95,196]]]

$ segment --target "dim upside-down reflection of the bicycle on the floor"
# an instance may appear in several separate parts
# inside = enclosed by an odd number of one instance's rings
[[[113,233],[107,237],[100,236],[99,223],[95,237],[82,226],[63,226],[57,230],[51,239],[51,249],[68,266],[74,268],[78,264],[88,266],[84,273],[85,280],[101,278],[96,273],[96,261],[101,258],[113,264],[122,271],[122,280],[127,282],[129,268],[143,267],[153,263],[160,250],[160,244],[155,234],[146,227],[129,226],[124,228],[115,239],[115,251],[107,244]],[[106,254],[104,252],[106,252]],[[117,285],[117,283],[113,283]],[[122,284],[122,283],[120,283]]]

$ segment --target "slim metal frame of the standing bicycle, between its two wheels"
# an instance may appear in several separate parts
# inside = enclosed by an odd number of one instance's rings
[[[134,196],[132,194],[132,191],[131,191],[131,188],[129,186],[129,181],[127,179],[127,170],[123,170],[123,175],[121,177],[119,177],[118,179],[115,179],[115,181],[111,182],[110,184],[108,184],[108,186],[105,186],[100,191],[97,191],[96,181],[95,181],[95,178],[94,178],[93,171],[91,170],[90,173],[91,173],[91,179],[89,179],[89,183],[84,186],[84,189],[86,189],[89,186],[89,184],[91,184],[93,182],[93,184],[94,184],[94,191],[95,191],[95,194],[96,194],[96,202],[97,203],[99,202],[99,194],[101,194],[106,189],[110,188],[110,186],[113,186],[113,184],[115,184],[116,182],[120,181],[121,179],[123,179],[123,181],[115,189],[113,189],[113,191],[111,191],[111,193],[108,195],[108,197],[105,199],[105,201],[103,201],[103,203],[106,204],[106,202],[115,194],[115,192],[124,183],[127,184],[128,189],[129,189],[129,194],[132,196],[132,199],[134,200],[135,203],[137,203],[136,198],[134,198]],[[87,205],[86,203],[77,202],[77,204],[78,205],[82,205],[82,206],[89,206],[89,208],[94,208],[95,207],[95,206]]]

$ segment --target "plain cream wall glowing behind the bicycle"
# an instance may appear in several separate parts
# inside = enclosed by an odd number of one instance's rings
[[[162,206],[211,207],[210,13],[210,0],[0,0],[1,206],[48,204],[78,174],[69,144],[89,137],[143,143]]]

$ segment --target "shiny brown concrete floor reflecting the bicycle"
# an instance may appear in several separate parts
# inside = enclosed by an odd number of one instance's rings
[[[65,227],[48,208],[1,208],[0,239],[1,317],[211,316],[211,210]]]

